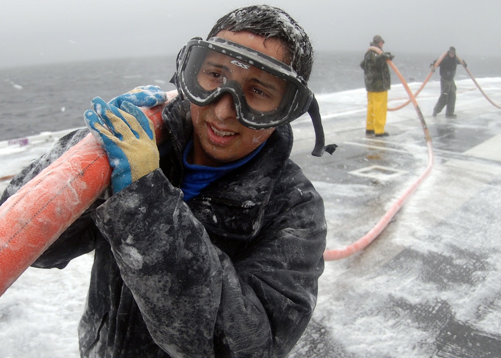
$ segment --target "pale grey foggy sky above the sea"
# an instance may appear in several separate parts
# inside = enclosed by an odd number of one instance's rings
[[[227,12],[254,0],[2,0],[0,67],[167,55],[205,37]],[[296,19],[316,50],[501,56],[499,0],[269,0]]]

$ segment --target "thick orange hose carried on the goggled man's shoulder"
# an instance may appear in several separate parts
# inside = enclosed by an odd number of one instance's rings
[[[161,142],[163,105],[142,109]],[[108,157],[89,133],[0,206],[0,296],[94,203],[110,178]]]

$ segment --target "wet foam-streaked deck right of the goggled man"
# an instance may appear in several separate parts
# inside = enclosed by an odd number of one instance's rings
[[[433,169],[365,250],[326,262],[291,357],[501,356],[501,110],[461,83],[455,119],[430,116],[436,87],[418,97]],[[412,104],[377,139],[353,112],[325,120],[332,157],[307,158],[301,140],[294,153],[326,201],[328,249],[367,233],[428,163]]]

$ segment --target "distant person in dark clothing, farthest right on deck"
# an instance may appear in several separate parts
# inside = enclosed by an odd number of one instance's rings
[[[432,71],[435,71],[435,63],[437,60],[433,61],[430,65]],[[454,107],[456,105],[456,84],[454,83],[454,76],[456,75],[457,64],[460,63],[456,57],[456,49],[450,47],[447,51],[447,56],[445,56],[438,65],[440,67],[440,97],[433,108],[433,117],[436,117],[438,113],[445,108],[446,118],[456,118],[454,114]],[[466,66],[466,63],[464,63]]]

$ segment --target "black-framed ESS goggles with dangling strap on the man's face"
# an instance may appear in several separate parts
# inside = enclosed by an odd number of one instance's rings
[[[335,149],[324,148],[318,103],[304,79],[257,50],[218,37],[192,39],[179,52],[171,82],[181,97],[198,106],[229,93],[237,120],[252,129],[278,127],[309,112],[316,134],[312,154]]]

